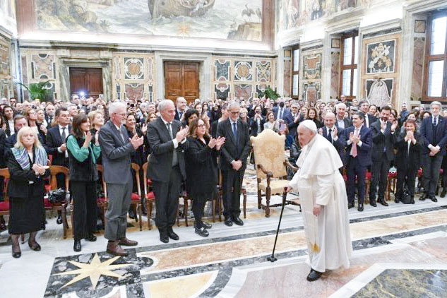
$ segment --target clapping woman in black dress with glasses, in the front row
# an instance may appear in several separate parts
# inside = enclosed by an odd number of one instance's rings
[[[208,134],[203,119],[195,119],[189,124],[189,147],[186,150],[186,191],[192,198],[194,229],[196,234],[208,237],[211,225],[202,221],[206,200],[216,196],[217,155],[225,143],[225,138],[213,138]]]

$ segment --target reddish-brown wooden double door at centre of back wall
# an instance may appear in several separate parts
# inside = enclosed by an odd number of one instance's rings
[[[185,97],[189,103],[199,97],[199,62],[165,61],[165,98]]]

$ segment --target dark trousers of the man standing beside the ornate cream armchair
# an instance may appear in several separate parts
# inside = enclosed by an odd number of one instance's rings
[[[245,169],[222,170],[222,189],[225,218],[237,218],[241,214],[241,187]]]

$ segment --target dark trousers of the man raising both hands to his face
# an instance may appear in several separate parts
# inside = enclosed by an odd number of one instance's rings
[[[376,190],[379,185],[377,196],[379,201],[385,200],[386,179],[390,171],[390,161],[386,158],[386,154],[382,154],[381,160],[373,160],[371,167],[371,189],[369,190],[369,201],[376,201]]]

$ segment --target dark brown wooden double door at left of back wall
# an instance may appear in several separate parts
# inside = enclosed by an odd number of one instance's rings
[[[85,97],[98,97],[102,89],[102,68],[70,67],[71,95],[85,93]]]

